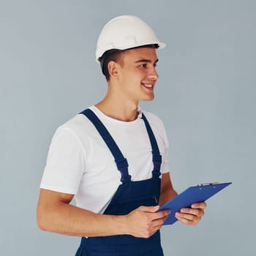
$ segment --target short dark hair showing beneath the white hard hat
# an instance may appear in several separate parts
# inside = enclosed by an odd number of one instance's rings
[[[138,47],[129,48],[129,49],[125,49],[125,50],[131,50],[131,49],[135,49],[135,48],[144,48],[144,47],[157,49],[157,48],[159,48],[159,45],[157,45],[157,44],[141,45],[141,46],[138,46]],[[100,67],[102,68],[102,73],[103,73],[103,75],[105,75],[105,78],[107,79],[107,81],[110,79],[110,74],[108,72],[108,62],[116,61],[119,64],[122,64],[122,62],[121,62],[121,53],[123,53],[125,50],[118,50],[118,49],[107,50],[99,58],[99,63],[100,63]]]

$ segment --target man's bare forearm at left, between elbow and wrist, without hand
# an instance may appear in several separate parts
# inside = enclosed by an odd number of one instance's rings
[[[124,216],[94,214],[62,202],[54,206],[39,206],[37,222],[42,230],[69,236],[112,236],[127,233]]]

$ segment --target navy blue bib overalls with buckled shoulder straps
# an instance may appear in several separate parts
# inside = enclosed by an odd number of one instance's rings
[[[135,210],[139,206],[157,206],[160,195],[161,179],[160,166],[162,156],[159,153],[157,140],[148,124],[146,117],[142,114],[146,125],[148,137],[152,148],[152,160],[154,170],[152,178],[143,181],[131,181],[128,173],[128,162],[119,150],[115,141],[108,130],[94,114],[93,111],[86,109],[82,112],[94,124],[99,134],[105,140],[116,162],[116,166],[121,173],[120,186],[116,190],[113,199],[110,201],[104,214],[125,215]],[[80,247],[75,256],[142,256],[154,255],[162,256],[159,230],[150,238],[135,238],[129,235],[120,236],[99,236],[82,238]]]

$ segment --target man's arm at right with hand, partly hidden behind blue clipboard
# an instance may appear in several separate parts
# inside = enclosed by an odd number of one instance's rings
[[[172,182],[170,181],[170,173],[162,174],[161,181],[161,195],[159,199],[159,205],[162,206],[168,200],[176,197],[177,193],[173,189]],[[186,225],[197,225],[200,219],[204,215],[204,209],[206,203],[193,203],[191,208],[181,208],[181,211],[176,212],[175,217]]]

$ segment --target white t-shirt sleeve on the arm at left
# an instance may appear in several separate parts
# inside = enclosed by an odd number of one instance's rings
[[[75,195],[85,170],[85,154],[80,140],[67,127],[53,135],[40,188]]]

